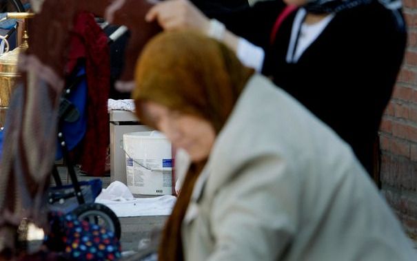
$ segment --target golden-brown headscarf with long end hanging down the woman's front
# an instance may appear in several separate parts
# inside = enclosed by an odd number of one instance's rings
[[[156,127],[141,111],[144,101],[153,101],[204,118],[218,134],[253,73],[223,43],[192,31],[163,32],[145,46],[136,65],[136,114]],[[185,176],[163,232],[159,260],[183,260],[181,222],[205,161],[193,163]]]

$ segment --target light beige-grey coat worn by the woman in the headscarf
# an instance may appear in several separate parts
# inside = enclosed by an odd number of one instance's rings
[[[182,236],[192,261],[416,260],[352,149],[263,76],[218,135]]]

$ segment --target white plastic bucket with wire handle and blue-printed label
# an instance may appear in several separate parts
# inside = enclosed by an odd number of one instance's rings
[[[123,134],[128,188],[132,194],[172,194],[171,143],[160,132]]]

